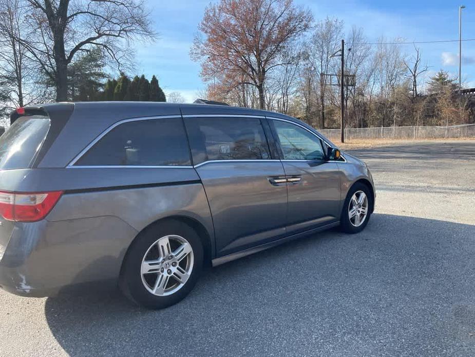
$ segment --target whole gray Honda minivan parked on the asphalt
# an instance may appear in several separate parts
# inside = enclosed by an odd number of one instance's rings
[[[374,208],[368,167],[307,124],[223,105],[55,103],[0,137],[0,287],[118,281],[164,308],[218,265]]]

